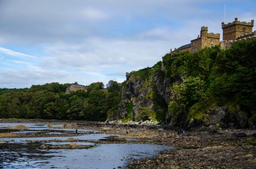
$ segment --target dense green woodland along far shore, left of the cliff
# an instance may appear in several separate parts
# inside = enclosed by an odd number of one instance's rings
[[[106,120],[117,109],[119,83],[86,86],[87,91],[66,94],[70,84],[49,83],[31,88],[0,90],[0,118]]]

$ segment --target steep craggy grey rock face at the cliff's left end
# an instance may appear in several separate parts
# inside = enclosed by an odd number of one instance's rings
[[[165,94],[165,90],[157,86],[163,86],[163,78],[157,77],[160,71],[156,67],[130,73],[129,79],[122,85],[118,119],[163,121],[167,104],[164,98],[159,97],[160,92]]]

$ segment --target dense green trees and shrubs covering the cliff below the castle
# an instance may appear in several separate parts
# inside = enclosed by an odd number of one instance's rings
[[[166,54],[163,63],[175,91],[168,105],[173,116],[185,109],[200,119],[207,109],[222,105],[234,113],[243,109],[247,116],[255,116],[256,40],[237,41],[226,50],[213,47]]]

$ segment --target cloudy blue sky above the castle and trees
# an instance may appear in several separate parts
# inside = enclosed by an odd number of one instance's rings
[[[255,0],[0,0],[0,88],[122,82],[221,22],[256,19]]]

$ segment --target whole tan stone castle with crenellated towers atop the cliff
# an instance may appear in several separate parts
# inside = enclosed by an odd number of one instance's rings
[[[253,32],[254,20],[251,22],[240,22],[235,18],[234,22],[222,25],[222,41],[220,41],[220,33],[208,33],[208,27],[201,27],[200,35],[191,40],[191,43],[183,45],[179,48],[171,49],[171,53],[175,51],[180,52],[196,52],[206,47],[213,47],[220,45],[222,49],[229,48],[236,40],[255,38],[256,31]]]

